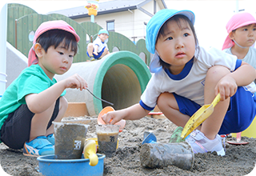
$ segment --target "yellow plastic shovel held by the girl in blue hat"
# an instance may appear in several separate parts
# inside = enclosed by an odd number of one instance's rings
[[[198,111],[196,111],[182,130],[181,137],[182,139],[186,138],[194,129],[201,125],[202,122],[206,120],[214,112],[214,106],[218,104],[221,100],[220,94],[214,98],[214,101],[210,105],[202,106]]]

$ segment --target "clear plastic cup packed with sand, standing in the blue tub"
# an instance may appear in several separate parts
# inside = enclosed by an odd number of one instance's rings
[[[89,125],[74,123],[54,123],[54,154],[56,159],[78,159],[86,140]]]

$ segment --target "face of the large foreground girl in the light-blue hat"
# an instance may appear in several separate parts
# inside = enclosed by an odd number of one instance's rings
[[[179,74],[186,62],[194,56],[195,40],[194,34],[188,22],[180,20],[180,24],[174,20],[166,23],[164,34],[158,35],[155,49],[160,58],[169,63],[172,74]]]

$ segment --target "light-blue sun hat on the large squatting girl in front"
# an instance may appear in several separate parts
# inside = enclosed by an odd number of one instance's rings
[[[176,14],[185,15],[194,25],[194,13],[190,10],[159,10],[146,25],[146,49],[154,54],[155,42],[162,25]]]

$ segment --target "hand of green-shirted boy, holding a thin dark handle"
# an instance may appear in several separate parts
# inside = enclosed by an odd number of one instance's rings
[[[77,88],[83,90],[88,86],[86,80],[78,74],[74,74],[73,76],[70,76],[63,81],[65,81],[65,88]]]

